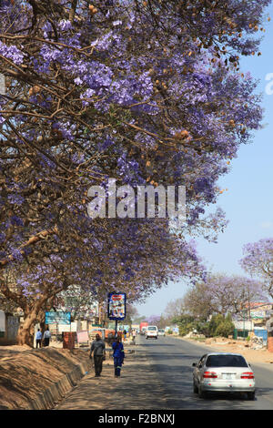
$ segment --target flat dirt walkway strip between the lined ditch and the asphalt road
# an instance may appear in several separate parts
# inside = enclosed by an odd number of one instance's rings
[[[126,355],[120,378],[114,377],[113,361],[106,362],[100,378],[90,371],[56,406],[56,410],[79,409],[164,410],[167,399],[144,349],[136,345],[136,352]]]

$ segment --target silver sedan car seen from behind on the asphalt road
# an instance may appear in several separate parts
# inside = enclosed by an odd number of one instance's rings
[[[205,398],[207,392],[247,392],[255,399],[255,377],[248,362],[239,353],[206,353],[193,363],[193,390]]]

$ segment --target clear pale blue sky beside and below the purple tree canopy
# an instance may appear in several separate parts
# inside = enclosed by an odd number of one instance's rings
[[[261,33],[264,34],[262,56],[241,60],[242,71],[250,71],[259,80],[257,91],[263,95],[265,127],[255,133],[252,144],[239,149],[230,172],[218,182],[220,189],[227,189],[216,205],[226,212],[227,229],[218,236],[217,244],[197,239],[198,253],[213,272],[246,275],[238,263],[243,257],[243,245],[273,237],[273,94],[266,91],[269,83],[266,76],[273,74],[273,5],[268,7],[268,14],[272,21],[264,25],[266,33]],[[187,287],[185,281],[170,283],[136,309],[141,315],[160,315],[167,302],[182,297]]]

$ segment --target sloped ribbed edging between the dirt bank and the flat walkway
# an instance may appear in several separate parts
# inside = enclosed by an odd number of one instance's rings
[[[89,361],[76,365],[72,372],[66,373],[58,382],[53,383],[44,392],[40,392],[35,399],[29,402],[26,410],[48,410],[63,400],[66,393],[70,392],[91,369]]]

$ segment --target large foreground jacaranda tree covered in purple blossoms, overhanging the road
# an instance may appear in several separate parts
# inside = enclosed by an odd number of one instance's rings
[[[24,309],[31,322],[38,296],[51,298],[70,275],[98,293],[129,275],[133,299],[139,281],[149,292],[199,274],[185,237],[225,226],[220,210],[203,214],[260,126],[256,84],[240,73],[239,56],[259,55],[254,35],[268,4],[1,1],[0,267],[20,272],[25,294],[39,290]],[[186,186],[187,222],[174,233],[167,219],[89,219],[87,191],[108,178]],[[0,280],[13,299],[20,280]]]

